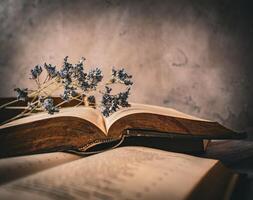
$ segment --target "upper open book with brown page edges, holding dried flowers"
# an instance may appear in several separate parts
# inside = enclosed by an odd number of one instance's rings
[[[241,137],[244,135],[217,122],[170,108],[133,103],[104,118],[90,107],[70,107],[54,115],[34,114],[0,126],[0,157],[65,150],[84,152],[123,141],[147,146],[157,143],[167,150],[194,152],[204,150],[203,139]]]

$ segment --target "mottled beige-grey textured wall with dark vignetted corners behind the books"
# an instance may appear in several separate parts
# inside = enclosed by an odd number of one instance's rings
[[[30,87],[30,68],[124,66],[131,101],[174,107],[237,130],[253,127],[250,1],[2,0],[0,96]]]

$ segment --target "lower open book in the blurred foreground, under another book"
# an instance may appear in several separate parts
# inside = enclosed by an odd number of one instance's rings
[[[0,177],[1,200],[228,200],[240,180],[218,160],[146,147],[0,159]]]

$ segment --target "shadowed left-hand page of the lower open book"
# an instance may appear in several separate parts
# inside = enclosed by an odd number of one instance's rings
[[[0,159],[0,185],[79,158],[56,152]]]

